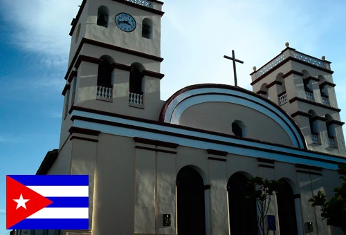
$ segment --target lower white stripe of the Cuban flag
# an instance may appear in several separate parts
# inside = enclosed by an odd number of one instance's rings
[[[89,208],[44,208],[28,218],[89,218]]]

